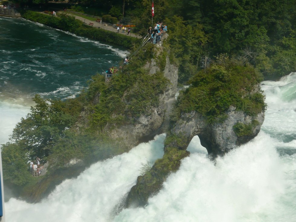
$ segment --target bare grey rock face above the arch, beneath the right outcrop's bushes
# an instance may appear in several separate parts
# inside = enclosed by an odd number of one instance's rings
[[[263,111],[256,116],[249,116],[230,106],[226,114],[227,118],[223,122],[207,124],[205,118],[197,112],[184,113],[174,124],[171,132],[176,135],[183,133],[189,142],[195,135],[198,135],[201,145],[207,149],[209,155],[216,156],[223,155],[236,146],[253,139],[259,133],[264,121]],[[235,124],[252,125],[254,121],[256,124],[248,135],[238,136],[234,132]]]

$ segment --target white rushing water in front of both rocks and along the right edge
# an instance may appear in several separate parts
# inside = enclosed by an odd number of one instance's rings
[[[259,135],[213,164],[198,138],[190,156],[145,207],[117,211],[136,183],[141,163],[163,155],[164,135],[93,164],[63,181],[41,203],[11,198],[6,220],[49,221],[296,221],[296,73],[265,81],[268,109]]]

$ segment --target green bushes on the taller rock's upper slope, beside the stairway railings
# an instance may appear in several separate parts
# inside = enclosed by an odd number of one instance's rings
[[[144,68],[146,61],[152,58],[155,49],[146,45],[133,56],[124,69],[113,75],[108,86],[104,77],[97,74],[89,85],[87,98],[93,101],[99,96],[96,104],[89,105],[90,125],[101,128],[109,123],[132,122],[140,115],[149,115],[151,107],[159,105],[159,94],[163,93],[168,80],[163,73],[149,74]],[[110,115],[112,114],[112,115]]]

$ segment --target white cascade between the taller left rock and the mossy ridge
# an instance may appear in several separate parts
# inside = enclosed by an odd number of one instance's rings
[[[5,205],[8,221],[31,221],[32,215],[42,221],[110,221],[135,185],[141,164],[162,157],[164,137],[158,135],[129,153],[93,164],[76,179],[63,181],[41,203],[11,198]]]

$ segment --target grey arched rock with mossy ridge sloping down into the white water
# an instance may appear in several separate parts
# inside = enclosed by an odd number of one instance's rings
[[[258,90],[254,91],[258,92]],[[167,133],[164,157],[157,160],[145,175],[138,177],[137,184],[128,193],[125,207],[147,204],[148,198],[161,189],[166,177],[171,172],[178,170],[181,159],[189,155],[186,149],[195,135],[199,136],[200,142],[207,149],[208,154],[215,158],[217,155],[223,155],[236,146],[253,139],[263,124],[264,111],[262,109],[262,112],[257,115],[250,116],[230,106],[223,122],[212,124],[209,124],[206,118],[196,111],[183,113],[171,125],[170,131]],[[236,132],[235,126],[237,124],[249,129],[248,132],[241,134]]]

